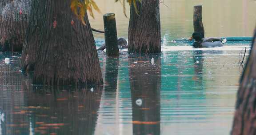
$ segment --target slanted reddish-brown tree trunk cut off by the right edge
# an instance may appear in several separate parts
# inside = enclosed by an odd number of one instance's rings
[[[256,135],[256,31],[237,92],[232,135]]]

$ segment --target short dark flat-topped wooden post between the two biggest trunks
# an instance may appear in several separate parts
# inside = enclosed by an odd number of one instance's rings
[[[107,13],[103,15],[105,44],[107,56],[118,57],[119,48],[117,44],[116,34],[116,17],[114,13]]]

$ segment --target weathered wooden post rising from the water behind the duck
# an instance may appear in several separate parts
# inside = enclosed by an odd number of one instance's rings
[[[202,6],[194,6],[194,32],[200,32],[204,37],[204,25],[202,22]]]

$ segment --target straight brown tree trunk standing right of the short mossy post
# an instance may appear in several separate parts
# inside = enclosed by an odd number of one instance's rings
[[[131,5],[128,29],[128,52],[160,53],[160,13],[159,0],[136,0],[136,8]]]

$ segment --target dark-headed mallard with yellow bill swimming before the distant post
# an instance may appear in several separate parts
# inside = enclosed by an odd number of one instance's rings
[[[216,37],[203,38],[201,33],[194,32],[188,40],[194,39],[193,43],[194,48],[208,48],[208,47],[221,47],[224,43],[227,42],[227,39],[221,39]]]

